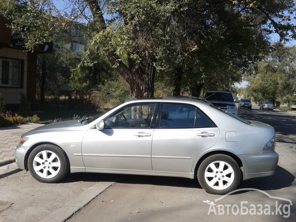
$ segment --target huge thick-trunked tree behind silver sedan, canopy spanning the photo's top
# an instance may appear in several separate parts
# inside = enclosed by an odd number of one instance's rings
[[[25,27],[28,49],[84,23],[81,31],[128,82],[132,97],[153,96],[156,68],[166,75],[173,70],[176,86],[184,76],[204,84],[222,69],[252,62],[266,46],[260,33],[295,38],[293,0],[68,0],[65,9],[54,2],[0,7],[17,31]]]

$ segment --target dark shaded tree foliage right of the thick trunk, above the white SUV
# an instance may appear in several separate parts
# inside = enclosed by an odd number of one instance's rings
[[[229,89],[268,54],[270,33],[283,41],[295,38],[289,21],[295,19],[293,1],[196,1],[196,6],[175,18],[186,35],[166,32],[170,36],[158,54],[159,75],[171,76],[175,95],[182,85],[193,96],[202,89]]]

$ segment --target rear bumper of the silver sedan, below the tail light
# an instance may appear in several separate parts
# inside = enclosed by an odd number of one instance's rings
[[[279,155],[274,151],[237,156],[243,163],[244,180],[273,175],[274,169],[279,162]]]

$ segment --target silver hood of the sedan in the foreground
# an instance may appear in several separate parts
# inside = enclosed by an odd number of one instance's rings
[[[35,129],[23,134],[22,137],[29,136],[31,134],[36,134],[36,133],[73,130],[73,129],[78,128],[79,126],[82,126],[80,123],[80,120],[67,120],[67,121],[62,121],[62,122],[57,122],[57,123],[51,123],[51,124],[47,124],[47,125],[35,128]]]

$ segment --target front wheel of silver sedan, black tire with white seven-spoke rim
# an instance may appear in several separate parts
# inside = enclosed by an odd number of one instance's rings
[[[55,183],[66,176],[70,164],[61,147],[52,144],[42,144],[30,153],[28,168],[37,181]]]

